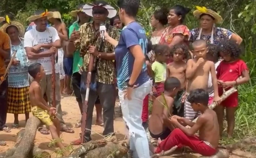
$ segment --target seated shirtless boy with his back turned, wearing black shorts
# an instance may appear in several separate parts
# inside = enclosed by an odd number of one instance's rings
[[[174,129],[174,127],[169,124],[168,118],[170,114],[172,114],[173,98],[178,91],[180,91],[179,79],[176,77],[168,77],[164,83],[164,97],[162,95],[158,96],[153,103],[148,126],[151,137],[155,139],[165,139]],[[168,108],[164,105],[167,105]]]

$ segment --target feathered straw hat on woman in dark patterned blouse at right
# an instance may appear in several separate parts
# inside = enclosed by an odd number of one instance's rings
[[[212,9],[207,9],[206,7],[199,7],[199,6],[196,6],[196,9],[197,10],[195,10],[193,14],[197,19],[200,19],[200,16],[202,14],[208,14],[215,19],[215,23],[220,24],[223,21],[222,17]]]

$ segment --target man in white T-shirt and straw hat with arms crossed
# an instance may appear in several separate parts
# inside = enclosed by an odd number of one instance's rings
[[[52,12],[36,11],[34,15],[28,18],[33,21],[36,27],[30,29],[24,36],[24,47],[29,59],[29,63],[40,63],[45,70],[45,77],[41,81],[42,94],[46,93],[49,104],[52,105],[52,60],[51,55],[55,54],[56,49],[61,48],[61,41],[57,30],[54,27],[47,27],[48,18],[53,16]],[[56,56],[57,54],[55,54]],[[55,88],[56,88],[56,111],[59,114],[61,123],[61,131],[74,133],[74,131],[66,127],[62,119],[61,94],[60,94],[60,75],[59,67],[55,64]],[[48,129],[42,128],[42,134],[49,134]]]

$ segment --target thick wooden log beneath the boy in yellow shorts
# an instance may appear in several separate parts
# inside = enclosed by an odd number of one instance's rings
[[[36,137],[37,128],[41,124],[41,121],[37,117],[30,117],[27,120],[24,135],[20,139],[20,143],[17,145],[15,152],[10,158],[27,157],[30,150],[34,146],[34,140]]]

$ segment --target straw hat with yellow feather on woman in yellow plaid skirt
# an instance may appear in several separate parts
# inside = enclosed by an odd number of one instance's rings
[[[24,26],[23,26],[20,22],[17,22],[17,21],[10,21],[8,15],[6,15],[6,17],[4,18],[3,21],[6,21],[6,23],[5,23],[3,26],[0,27],[0,30],[1,30],[1,31],[3,31],[3,32],[6,33],[6,29],[7,29],[9,26],[15,26],[15,27],[17,27],[20,36],[21,36],[21,37],[24,36],[25,28],[24,28]]]

